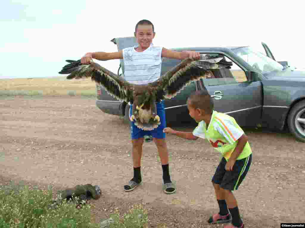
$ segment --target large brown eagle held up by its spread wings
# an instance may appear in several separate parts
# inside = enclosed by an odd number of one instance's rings
[[[231,68],[232,65],[232,62],[226,61],[221,55],[201,54],[199,60],[182,60],[154,82],[136,85],[93,60],[90,64],[81,64],[81,60],[66,62],[69,64],[66,64],[59,74],[69,74],[67,79],[91,78],[92,81],[100,83],[108,94],[120,101],[132,103],[130,120],[143,130],[153,130],[160,125],[156,102],[175,97],[190,82],[209,77],[213,69]]]

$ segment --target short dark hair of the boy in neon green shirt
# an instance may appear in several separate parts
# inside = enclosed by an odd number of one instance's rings
[[[213,113],[214,102],[206,90],[197,90],[188,97],[189,105],[195,109],[202,109],[208,114]]]

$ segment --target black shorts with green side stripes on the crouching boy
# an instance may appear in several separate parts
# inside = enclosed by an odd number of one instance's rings
[[[232,171],[226,171],[227,161],[223,157],[215,171],[212,182],[227,190],[237,190],[242,180],[247,175],[252,161],[252,154],[248,157],[236,160]]]

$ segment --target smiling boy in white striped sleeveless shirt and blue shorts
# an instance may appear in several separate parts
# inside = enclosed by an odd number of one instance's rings
[[[124,59],[124,78],[126,81],[136,85],[143,85],[154,82],[160,78],[162,57],[180,60],[188,57],[192,59],[200,58],[200,54],[196,52],[174,52],[166,48],[153,46],[152,39],[155,35],[156,33],[153,24],[148,20],[141,20],[135,27],[135,37],[139,44],[138,46],[125,48],[114,53],[87,53],[81,58],[81,63],[88,64],[90,63],[91,58],[97,60]],[[141,157],[144,141],[143,137],[145,134],[149,134],[147,131],[135,126],[133,120],[135,119],[134,111],[136,109],[137,107],[134,108],[133,105],[131,105],[130,114],[133,113],[130,115],[130,119],[134,176],[128,184],[124,186],[125,191],[134,190],[142,182]],[[174,193],[176,189],[170,180],[168,151],[165,133],[163,133],[163,129],[166,127],[164,103],[162,101],[157,102],[156,109],[156,119],[160,118],[160,125],[157,128],[150,130],[150,135],[154,138],[162,164],[164,192]],[[143,109],[138,108],[138,111],[141,110]]]

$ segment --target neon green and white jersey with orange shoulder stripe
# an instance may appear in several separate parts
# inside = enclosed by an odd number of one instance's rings
[[[194,136],[207,139],[227,161],[233,153],[238,139],[243,134],[244,131],[233,117],[216,111],[213,111],[210,124],[207,128],[206,123],[201,121],[193,130]],[[247,142],[242,153],[237,157],[237,160],[248,157],[250,154],[252,154],[252,150],[249,142]]]

